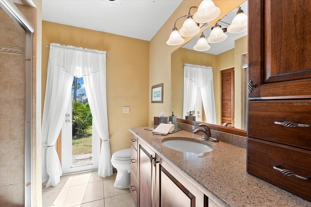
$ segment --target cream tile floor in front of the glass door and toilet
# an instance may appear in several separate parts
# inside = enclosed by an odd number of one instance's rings
[[[134,207],[130,190],[113,186],[115,178],[97,171],[62,176],[56,187],[42,187],[43,207]]]

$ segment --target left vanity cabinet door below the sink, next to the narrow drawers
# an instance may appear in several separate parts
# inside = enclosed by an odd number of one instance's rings
[[[155,153],[143,143],[139,144],[139,207],[154,207]]]

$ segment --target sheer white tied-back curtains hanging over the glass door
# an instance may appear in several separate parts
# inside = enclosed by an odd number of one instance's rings
[[[73,77],[83,77],[93,122],[103,141],[99,172],[112,175],[108,118],[106,108],[106,52],[50,44],[46,97],[44,101],[42,139],[47,140],[46,165],[49,175],[46,187],[56,186],[62,175],[61,165],[53,147],[71,98]],[[56,75],[55,75],[56,74]]]

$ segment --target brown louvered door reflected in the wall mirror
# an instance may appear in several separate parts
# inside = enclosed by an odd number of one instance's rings
[[[234,68],[221,71],[221,124],[234,126]]]

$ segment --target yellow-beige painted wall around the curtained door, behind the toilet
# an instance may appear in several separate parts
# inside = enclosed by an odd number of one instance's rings
[[[59,43],[104,50],[108,127],[111,154],[130,147],[130,127],[148,126],[149,42],[105,32],[42,21],[42,108],[45,97],[49,48]],[[130,113],[122,107],[129,106]]]

